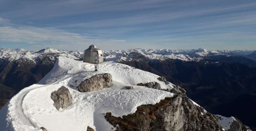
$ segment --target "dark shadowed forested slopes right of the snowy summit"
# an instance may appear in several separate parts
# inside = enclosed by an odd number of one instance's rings
[[[120,63],[166,77],[184,88],[189,98],[211,113],[232,115],[250,126],[255,125],[253,109],[256,103],[252,98],[256,93],[256,68],[238,63],[181,60]]]

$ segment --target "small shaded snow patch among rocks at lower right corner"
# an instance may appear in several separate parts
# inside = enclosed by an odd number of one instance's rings
[[[234,117],[224,117],[221,115],[215,115],[219,118],[219,123],[223,127],[224,130],[230,129],[230,125],[232,124],[233,121],[237,121],[236,118]]]

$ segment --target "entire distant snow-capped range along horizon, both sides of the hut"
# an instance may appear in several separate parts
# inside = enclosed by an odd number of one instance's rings
[[[138,56],[147,59],[179,59],[182,61],[200,61],[204,57],[211,55],[248,55],[251,50],[207,50],[203,48],[190,50],[171,50],[171,49],[127,49],[127,50],[109,50],[103,51],[105,61],[118,62],[120,60],[134,60]],[[19,60],[20,58],[29,58],[35,61],[39,56],[64,56],[74,60],[82,60],[83,51],[58,50],[53,48],[41,49],[39,51],[30,51],[25,49],[5,49],[0,48],[0,58],[10,60]]]

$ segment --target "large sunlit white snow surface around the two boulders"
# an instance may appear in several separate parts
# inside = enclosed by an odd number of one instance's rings
[[[132,114],[144,104],[156,104],[165,97],[173,97],[166,91],[156,90],[138,83],[158,82],[162,88],[173,88],[159,81],[158,75],[135,69],[128,65],[105,62],[98,72],[94,64],[59,57],[50,71],[38,84],[21,90],[0,110],[0,126],[3,131],[85,131],[87,126],[96,131],[115,128],[106,121],[104,114],[122,117]],[[96,73],[111,73],[113,86],[92,92],[79,92],[76,86]],[[59,111],[53,106],[51,93],[62,85],[72,95],[73,104]],[[127,90],[125,86],[133,86]]]

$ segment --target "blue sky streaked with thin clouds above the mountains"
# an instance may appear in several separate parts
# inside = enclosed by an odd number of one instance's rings
[[[0,47],[256,50],[255,0],[0,0]]]

